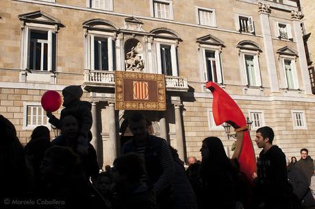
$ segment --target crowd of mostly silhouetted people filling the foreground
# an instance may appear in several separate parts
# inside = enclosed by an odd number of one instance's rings
[[[38,208],[114,209],[300,209],[314,208],[310,190],[313,160],[301,149],[301,160],[286,156],[273,145],[274,132],[260,127],[255,143],[261,148],[257,172],[248,179],[238,159],[230,159],[222,141],[207,137],[202,160],[190,157],[188,168],[166,140],[149,134],[147,120],[128,117],[134,135],[122,154],[99,172],[97,152],[90,144],[90,105],[80,101],[79,86],[63,90],[60,119],[47,112],[60,136],[51,140],[49,129],[38,126],[25,147],[14,125],[0,115],[0,208],[36,208],[12,205],[13,198],[55,199]],[[5,200],[11,201],[5,201]],[[3,204],[4,201],[4,204]],[[22,201],[23,202],[23,201]],[[57,204],[57,203],[62,204]]]

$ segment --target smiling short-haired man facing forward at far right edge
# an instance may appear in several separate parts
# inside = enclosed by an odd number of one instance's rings
[[[304,175],[307,177],[308,186],[311,185],[312,175],[314,173],[313,159],[308,155],[306,148],[301,149],[301,159],[297,162],[297,165],[301,168]]]

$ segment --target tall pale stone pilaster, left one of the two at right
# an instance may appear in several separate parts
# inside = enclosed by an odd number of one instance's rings
[[[275,53],[273,51],[273,40],[271,39],[269,23],[270,6],[261,2],[258,3],[258,13],[260,14],[260,23],[262,25],[262,36],[264,38],[264,54],[266,55],[266,64],[268,68],[271,92],[279,92],[279,82],[277,78],[277,68],[275,64]]]

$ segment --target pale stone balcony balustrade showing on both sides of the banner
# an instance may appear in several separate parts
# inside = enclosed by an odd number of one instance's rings
[[[82,87],[89,92],[106,88],[114,90],[115,73],[113,71],[85,70]],[[166,91],[187,92],[187,77],[165,75],[165,87]]]

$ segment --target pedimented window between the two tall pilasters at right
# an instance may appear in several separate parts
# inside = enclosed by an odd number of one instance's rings
[[[287,89],[299,89],[299,78],[295,64],[297,53],[289,47],[283,47],[279,49],[277,53],[279,54],[282,87]]]

